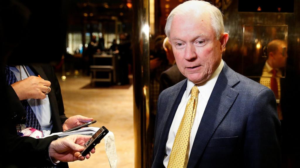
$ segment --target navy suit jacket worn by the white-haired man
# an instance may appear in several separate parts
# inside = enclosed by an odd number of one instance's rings
[[[186,86],[184,80],[158,98],[153,168],[164,167],[170,126]],[[205,108],[187,167],[280,167],[280,137],[273,92],[225,63]]]

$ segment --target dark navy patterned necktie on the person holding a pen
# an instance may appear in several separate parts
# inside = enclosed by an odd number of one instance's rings
[[[5,67],[4,74],[6,77],[6,85],[11,85],[18,81],[15,74],[12,71],[10,71],[8,66]],[[38,119],[37,119],[35,113],[33,112],[32,108],[30,107],[28,101],[21,100],[21,103],[22,103],[25,111],[27,112],[25,125],[27,127],[32,127],[32,128],[35,128],[35,129],[38,129],[41,131],[41,125],[38,122]]]

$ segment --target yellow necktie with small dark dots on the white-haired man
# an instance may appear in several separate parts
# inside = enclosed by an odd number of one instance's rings
[[[185,107],[184,115],[177,130],[167,168],[186,167],[188,157],[187,147],[190,141],[190,131],[196,113],[199,90],[193,86],[191,97]]]

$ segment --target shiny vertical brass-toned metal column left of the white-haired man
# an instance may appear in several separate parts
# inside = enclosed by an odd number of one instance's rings
[[[149,0],[136,0],[133,7],[133,85],[135,167],[151,164],[149,129]],[[150,136],[150,137],[149,137]],[[153,137],[153,135],[152,135]]]

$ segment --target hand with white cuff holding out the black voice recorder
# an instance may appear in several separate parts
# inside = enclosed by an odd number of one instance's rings
[[[83,161],[85,158],[90,158],[90,153],[85,157],[80,153],[84,149],[84,143],[90,138],[91,136],[88,135],[69,135],[52,141],[49,146],[49,154],[53,163],[56,161]],[[91,150],[91,153],[95,153],[95,148]]]

